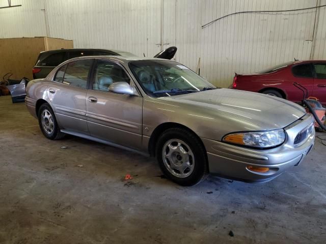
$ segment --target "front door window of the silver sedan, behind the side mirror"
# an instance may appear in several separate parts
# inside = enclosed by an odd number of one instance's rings
[[[106,60],[97,60],[93,79],[93,90],[108,92],[108,87],[111,84],[120,81],[130,84],[129,77],[118,64]]]

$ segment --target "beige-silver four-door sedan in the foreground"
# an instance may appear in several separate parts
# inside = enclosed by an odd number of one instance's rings
[[[299,165],[315,138],[301,106],[217,88],[166,59],[73,58],[26,89],[25,104],[48,139],[71,134],[154,156],[183,186],[208,173],[273,179]]]

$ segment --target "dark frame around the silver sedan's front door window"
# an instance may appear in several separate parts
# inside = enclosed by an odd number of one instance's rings
[[[107,90],[106,91],[106,90],[95,90],[95,89],[93,89],[93,83],[94,83],[94,80],[95,80],[95,70],[97,68],[97,62],[99,60],[100,61],[104,61],[104,62],[111,62],[113,64],[118,65],[126,73],[126,75],[128,76],[128,78],[130,79],[129,85],[135,87],[135,89],[137,90],[138,95],[135,95],[135,96],[136,97],[142,97],[141,92],[139,90],[139,87],[136,85],[133,77],[129,74],[129,72],[127,71],[127,69],[123,65],[121,65],[119,62],[116,62],[115,60],[112,60],[112,59],[105,59],[105,58],[96,58],[96,59],[94,59],[93,67],[92,67],[92,72],[91,72],[91,78],[90,78],[90,81],[89,81],[89,84],[88,84],[88,89],[89,90],[92,90],[93,92],[101,92],[101,93],[107,93],[107,94],[117,94],[117,95],[129,96],[127,94],[113,93],[113,92],[110,92],[110,90]]]

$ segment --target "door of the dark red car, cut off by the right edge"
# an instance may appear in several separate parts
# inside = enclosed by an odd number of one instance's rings
[[[323,106],[326,106],[326,63],[315,63],[314,86],[312,96],[319,99]]]

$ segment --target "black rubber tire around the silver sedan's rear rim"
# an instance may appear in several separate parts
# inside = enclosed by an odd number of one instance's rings
[[[43,125],[42,125],[42,113],[45,110],[48,111],[51,114],[51,117],[52,117],[52,121],[53,121],[53,127],[52,128],[53,129],[52,129],[51,133],[46,132],[45,129],[43,128]],[[61,139],[61,138],[63,138],[65,136],[65,133],[60,131],[60,128],[58,126],[55,113],[53,113],[53,110],[52,110],[51,106],[48,103],[44,103],[44,104],[41,105],[41,107],[39,108],[39,111],[38,111],[38,118],[39,118],[40,129],[41,129],[43,135],[46,138],[48,138],[50,140],[58,140],[58,139]]]

